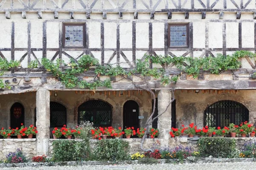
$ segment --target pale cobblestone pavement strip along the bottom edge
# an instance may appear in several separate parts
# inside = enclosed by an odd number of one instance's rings
[[[57,167],[4,167],[0,170],[256,170],[256,162],[133,164]]]

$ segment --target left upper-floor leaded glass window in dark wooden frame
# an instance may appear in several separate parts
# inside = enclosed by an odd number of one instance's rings
[[[63,46],[66,48],[85,47],[85,24],[63,25]]]

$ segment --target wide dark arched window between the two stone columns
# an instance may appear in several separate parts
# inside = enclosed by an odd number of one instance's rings
[[[112,124],[111,105],[101,100],[89,100],[78,108],[78,122],[90,121],[94,126],[109,127]]]

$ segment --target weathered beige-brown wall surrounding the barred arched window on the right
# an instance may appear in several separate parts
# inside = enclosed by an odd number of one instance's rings
[[[232,100],[243,104],[249,110],[249,122],[255,124],[256,105],[254,91],[237,91],[236,94],[223,93],[187,93],[187,91],[175,91],[176,99],[176,127],[182,124],[188,126],[194,122],[199,128],[204,126],[204,110],[215,102]]]

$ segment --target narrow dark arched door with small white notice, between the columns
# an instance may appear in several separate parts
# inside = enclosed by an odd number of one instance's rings
[[[128,100],[127,102],[125,102],[123,107],[123,121],[124,129],[126,127],[134,127],[135,130],[137,130],[137,128],[140,128],[139,105],[134,100]],[[137,137],[137,135],[131,137]]]

